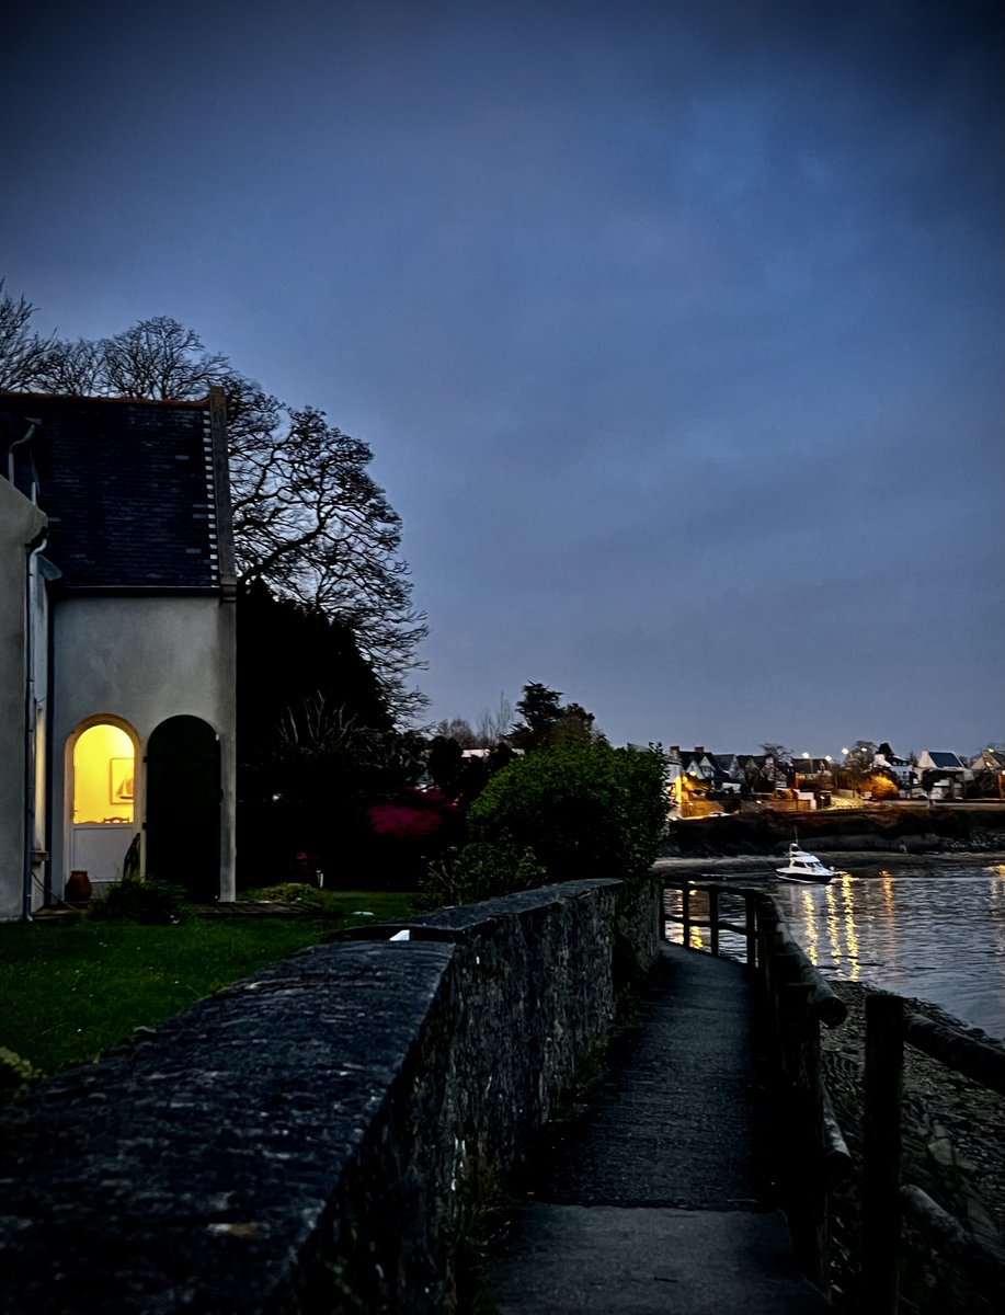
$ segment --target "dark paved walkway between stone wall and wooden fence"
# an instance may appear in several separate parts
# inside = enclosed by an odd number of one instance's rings
[[[821,1315],[771,1202],[745,969],[667,945],[605,1076],[550,1126],[488,1266],[499,1315]]]

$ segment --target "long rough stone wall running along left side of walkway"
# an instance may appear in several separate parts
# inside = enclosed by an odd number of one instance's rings
[[[450,1311],[481,1193],[655,957],[658,892],[314,947],[8,1106],[0,1311]]]

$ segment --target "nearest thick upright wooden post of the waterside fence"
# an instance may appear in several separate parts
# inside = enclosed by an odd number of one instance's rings
[[[862,1126],[862,1310],[896,1315],[900,1245],[900,1101],[904,1001],[866,998],[866,1094]]]

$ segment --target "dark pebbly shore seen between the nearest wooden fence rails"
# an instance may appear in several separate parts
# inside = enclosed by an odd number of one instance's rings
[[[862,1093],[866,1044],[866,999],[862,982],[831,981],[848,1009],[845,1023],[822,1028],[821,1045],[827,1089],[838,1122],[855,1159],[855,1173],[835,1197],[834,1283],[838,1304],[854,1308],[855,1257],[859,1245],[858,1176],[860,1170]],[[1005,1045],[967,1027],[926,1001],[909,1007],[1005,1053]],[[968,1232],[1005,1264],[1005,1098],[944,1068],[912,1047],[904,1051],[904,1182],[914,1182],[959,1219]],[[934,1248],[931,1240],[905,1228],[901,1257],[901,1310],[916,1315],[991,1312],[997,1307],[966,1264]]]

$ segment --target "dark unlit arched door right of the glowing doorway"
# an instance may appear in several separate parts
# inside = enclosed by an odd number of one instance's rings
[[[220,739],[199,717],[168,717],[146,751],[146,873],[220,898]]]

